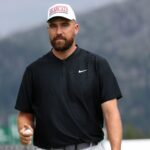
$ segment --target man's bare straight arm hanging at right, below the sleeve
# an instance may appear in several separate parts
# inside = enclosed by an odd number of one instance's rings
[[[111,150],[121,150],[122,123],[117,100],[112,99],[102,103],[102,111],[106,123]]]

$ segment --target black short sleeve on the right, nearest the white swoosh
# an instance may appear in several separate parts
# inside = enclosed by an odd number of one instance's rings
[[[101,103],[114,98],[120,99],[122,94],[119,85],[106,59],[98,58],[97,69]]]

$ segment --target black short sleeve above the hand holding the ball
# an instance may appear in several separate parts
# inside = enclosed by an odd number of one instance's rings
[[[32,73],[29,68],[24,72],[18,92],[15,108],[22,112],[32,113]]]

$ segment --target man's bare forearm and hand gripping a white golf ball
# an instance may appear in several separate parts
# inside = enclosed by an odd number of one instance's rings
[[[19,112],[17,118],[18,132],[22,144],[30,144],[33,137],[34,117],[31,113]],[[31,132],[27,133],[27,129]],[[28,130],[28,131],[29,131]]]

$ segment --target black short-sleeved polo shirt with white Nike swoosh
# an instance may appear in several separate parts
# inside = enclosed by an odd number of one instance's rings
[[[77,48],[65,60],[49,52],[29,65],[15,108],[35,115],[34,145],[62,147],[102,140],[100,104],[120,97],[107,61]]]

